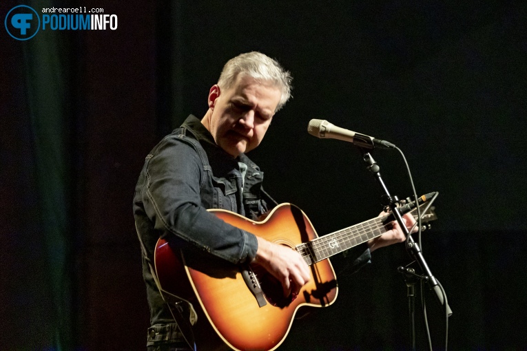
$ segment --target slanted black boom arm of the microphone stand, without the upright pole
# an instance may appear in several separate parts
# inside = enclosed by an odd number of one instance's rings
[[[399,208],[395,204],[395,201],[391,197],[390,192],[386,188],[386,184],[384,184],[384,181],[381,178],[381,175],[379,172],[380,171],[379,165],[377,164],[377,162],[375,162],[375,160],[373,160],[373,157],[371,157],[371,154],[369,152],[364,152],[364,150],[362,150],[362,152],[364,153],[362,158],[364,162],[368,164],[368,167],[366,168],[371,173],[373,173],[373,175],[375,175],[375,179],[378,181],[380,187],[384,191],[384,194],[381,196],[381,203],[384,206],[389,206],[389,208],[391,209],[391,212],[393,213],[393,216],[395,217],[395,220],[397,220],[397,223],[399,223],[404,235],[406,235],[406,238],[407,238],[406,251],[415,261],[417,261],[417,264],[419,264],[420,268],[423,270],[424,275],[426,275],[426,277],[428,278],[426,279],[426,281],[428,282],[428,286],[430,286],[430,288],[435,291],[435,296],[437,297],[437,300],[439,301],[441,306],[444,306],[445,301],[444,301],[443,292],[439,284],[437,283],[437,279],[435,279],[430,268],[428,268],[428,264],[426,264],[426,261],[424,260],[424,257],[422,255],[421,248],[413,240],[413,237],[409,233],[408,228],[406,228],[406,225],[404,225],[404,220],[402,219],[402,215],[399,211]],[[450,310],[450,308],[448,306],[446,306],[446,308],[448,311],[448,315],[451,315],[452,311]]]

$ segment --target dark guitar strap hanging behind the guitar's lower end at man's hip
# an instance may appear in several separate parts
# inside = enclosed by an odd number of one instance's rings
[[[156,270],[152,265],[152,260],[149,259],[147,255],[145,244],[143,244],[143,240],[141,240],[141,235],[139,235],[137,224],[136,233],[137,237],[139,238],[139,242],[141,243],[141,252],[143,253],[143,258],[148,264],[150,274],[152,274],[152,277],[154,278],[156,286],[159,290],[159,295],[161,295],[161,298],[167,304],[170,313],[174,318],[174,321],[176,321],[176,323],[178,324],[178,328],[180,329],[181,334],[183,334],[183,337],[185,338],[185,341],[187,341],[192,350],[196,351],[196,341],[194,339],[194,332],[192,332],[192,326],[198,320],[198,315],[196,314],[196,310],[194,310],[194,306],[192,306],[189,301],[177,297],[176,295],[169,293],[163,294],[164,290],[161,288],[161,284],[159,284],[159,280],[156,275]],[[189,317],[183,317],[183,313],[185,313],[185,315],[188,315]]]

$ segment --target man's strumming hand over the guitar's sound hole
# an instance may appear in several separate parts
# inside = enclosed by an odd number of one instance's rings
[[[258,251],[254,262],[260,264],[273,277],[278,279],[284,288],[284,296],[298,296],[300,289],[309,279],[309,266],[299,253],[283,245],[273,244],[261,237],[258,239]]]

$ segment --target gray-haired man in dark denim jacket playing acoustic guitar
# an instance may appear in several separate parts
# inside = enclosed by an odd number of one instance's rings
[[[149,351],[188,348],[179,331],[185,326],[178,328],[149,266],[160,237],[205,251],[211,259],[236,265],[257,263],[280,281],[285,296],[296,297],[309,281],[309,268],[296,251],[207,212],[227,209],[256,220],[273,204],[262,189],[262,172],[245,153],[260,145],[290,94],[291,76],[276,61],[259,52],[240,54],[227,62],[218,83],[211,87],[205,116],[201,120],[189,116],[147,156],[136,186],[134,217],[143,246],[151,312]],[[393,230],[364,245],[364,253],[355,262],[360,266],[369,261],[374,249],[402,240],[404,235],[395,224]]]

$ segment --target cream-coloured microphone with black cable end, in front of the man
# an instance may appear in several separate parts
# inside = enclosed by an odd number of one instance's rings
[[[393,149],[395,145],[386,140],[380,140],[364,134],[355,133],[348,129],[337,127],[327,120],[310,120],[307,126],[307,132],[317,138],[329,138],[352,142],[358,147],[364,149],[373,149],[380,147],[382,149]]]

